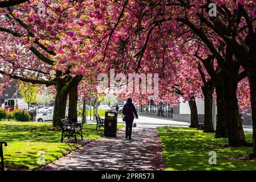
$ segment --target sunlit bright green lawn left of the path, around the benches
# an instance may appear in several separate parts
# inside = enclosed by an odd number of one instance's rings
[[[40,122],[0,122],[0,141],[3,147],[5,168],[9,170],[38,169],[43,166],[42,151],[46,164],[81,147],[76,143],[60,143],[61,131],[51,131],[52,123]],[[123,126],[117,126],[120,129]],[[83,126],[84,139],[97,139],[103,131],[95,131],[96,125]],[[80,139],[78,137],[78,139]],[[39,164],[38,164],[39,163]]]

